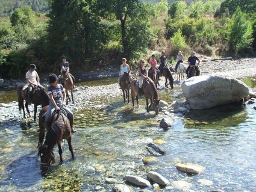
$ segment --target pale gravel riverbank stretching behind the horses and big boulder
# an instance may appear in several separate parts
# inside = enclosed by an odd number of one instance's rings
[[[229,60],[229,58],[223,60],[210,60],[209,58],[203,57],[199,58],[201,59],[201,75],[208,75],[215,72],[224,72],[227,75],[233,76],[234,78],[245,78],[248,76],[252,76],[254,79],[256,79],[256,58],[242,58],[239,60]],[[74,73],[76,74],[77,80],[82,80],[84,78],[105,78],[109,76],[117,77],[118,72],[119,69],[108,69],[98,70],[96,72],[90,73]],[[173,74],[173,78],[176,80],[175,73]],[[15,85],[23,83],[14,80],[13,82],[15,82]],[[180,84],[175,84],[175,86],[180,86]],[[163,87],[164,78],[161,78],[159,88]],[[122,91],[120,91],[119,85],[117,83],[104,86],[99,85],[92,87],[76,87],[73,94],[75,98],[75,104],[69,104],[69,108],[74,112],[92,105],[90,99],[93,98],[99,98],[100,96],[122,97]],[[9,104],[0,104],[0,113],[0,121],[2,123],[8,122],[9,120],[17,120],[22,118],[22,114],[18,111],[17,101],[10,102]],[[33,114],[33,110],[31,111],[31,114]]]

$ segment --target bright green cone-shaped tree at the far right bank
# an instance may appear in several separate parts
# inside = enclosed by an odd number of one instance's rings
[[[248,16],[237,7],[228,28],[229,50],[235,54],[245,55],[252,48],[252,24]]]

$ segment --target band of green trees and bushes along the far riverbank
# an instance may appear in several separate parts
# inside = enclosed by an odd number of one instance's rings
[[[254,0],[49,0],[48,5],[45,13],[26,5],[0,19],[1,78],[23,78],[30,63],[41,73],[58,73],[61,55],[71,70],[119,66],[122,57],[133,69],[140,58],[152,51],[158,58],[161,50],[169,60],[179,50],[187,57],[192,49],[209,57],[255,56]]]

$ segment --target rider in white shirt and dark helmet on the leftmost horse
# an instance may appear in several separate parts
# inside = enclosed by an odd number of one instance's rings
[[[39,86],[42,89],[45,89],[42,85],[40,85],[40,78],[39,75],[36,72],[36,65],[30,64],[30,70],[26,73],[26,80],[28,82],[28,105],[31,105],[32,103],[32,95],[33,95],[33,89]]]

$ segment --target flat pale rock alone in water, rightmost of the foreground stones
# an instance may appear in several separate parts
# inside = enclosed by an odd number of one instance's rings
[[[205,167],[193,163],[177,163],[175,164],[175,167],[179,171],[187,173],[189,175],[202,173],[205,170]]]

